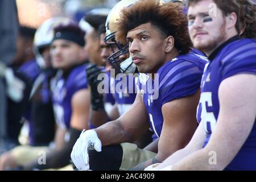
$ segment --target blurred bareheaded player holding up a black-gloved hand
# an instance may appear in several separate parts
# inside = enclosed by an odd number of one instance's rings
[[[94,110],[99,110],[108,105],[108,110],[111,110],[114,100],[111,94],[99,94],[97,91],[97,76],[101,73],[100,69],[105,69],[108,62],[101,57],[100,47],[100,33],[98,29],[102,23],[105,23],[106,17],[108,16],[109,9],[94,9],[89,11],[82,21],[88,24],[88,34],[85,35],[85,51],[88,53],[90,64],[86,68],[86,75],[88,84],[90,85],[90,119],[89,127],[94,128],[100,126],[101,123],[105,123],[106,119],[97,119],[97,113]],[[110,96],[110,97],[109,97]],[[105,97],[105,98],[104,98]],[[97,100],[97,103],[96,103]],[[107,109],[107,108],[106,108]],[[96,119],[95,119],[96,117]],[[97,122],[94,122],[94,121]]]

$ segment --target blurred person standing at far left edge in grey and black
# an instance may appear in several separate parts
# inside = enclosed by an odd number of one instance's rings
[[[2,24],[0,29],[4,32],[0,36],[3,44],[0,48],[0,154],[2,154],[19,144],[18,133],[21,127],[19,122],[23,108],[27,105],[30,89],[29,84],[26,84],[28,82],[26,77],[7,67],[16,52],[19,27],[16,2],[1,1],[0,9]]]

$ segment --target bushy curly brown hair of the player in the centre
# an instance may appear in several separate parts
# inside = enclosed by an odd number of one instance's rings
[[[123,9],[117,23],[116,39],[126,44],[127,32],[144,23],[158,28],[163,38],[174,37],[174,47],[181,54],[188,53],[192,46],[188,34],[187,17],[181,3],[160,4],[158,0],[139,1]]]

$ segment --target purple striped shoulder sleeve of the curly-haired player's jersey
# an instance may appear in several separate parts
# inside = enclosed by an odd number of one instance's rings
[[[162,105],[195,93],[200,88],[207,62],[206,58],[202,59],[195,53],[188,53],[168,61],[160,68],[159,95],[162,96]]]

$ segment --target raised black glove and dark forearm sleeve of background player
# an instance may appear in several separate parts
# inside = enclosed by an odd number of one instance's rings
[[[102,73],[100,68],[96,64],[88,64],[86,67],[86,77],[88,84],[90,85],[90,104],[92,109],[100,111],[104,109],[103,94],[98,93],[98,84],[101,80],[97,80],[98,75]]]

